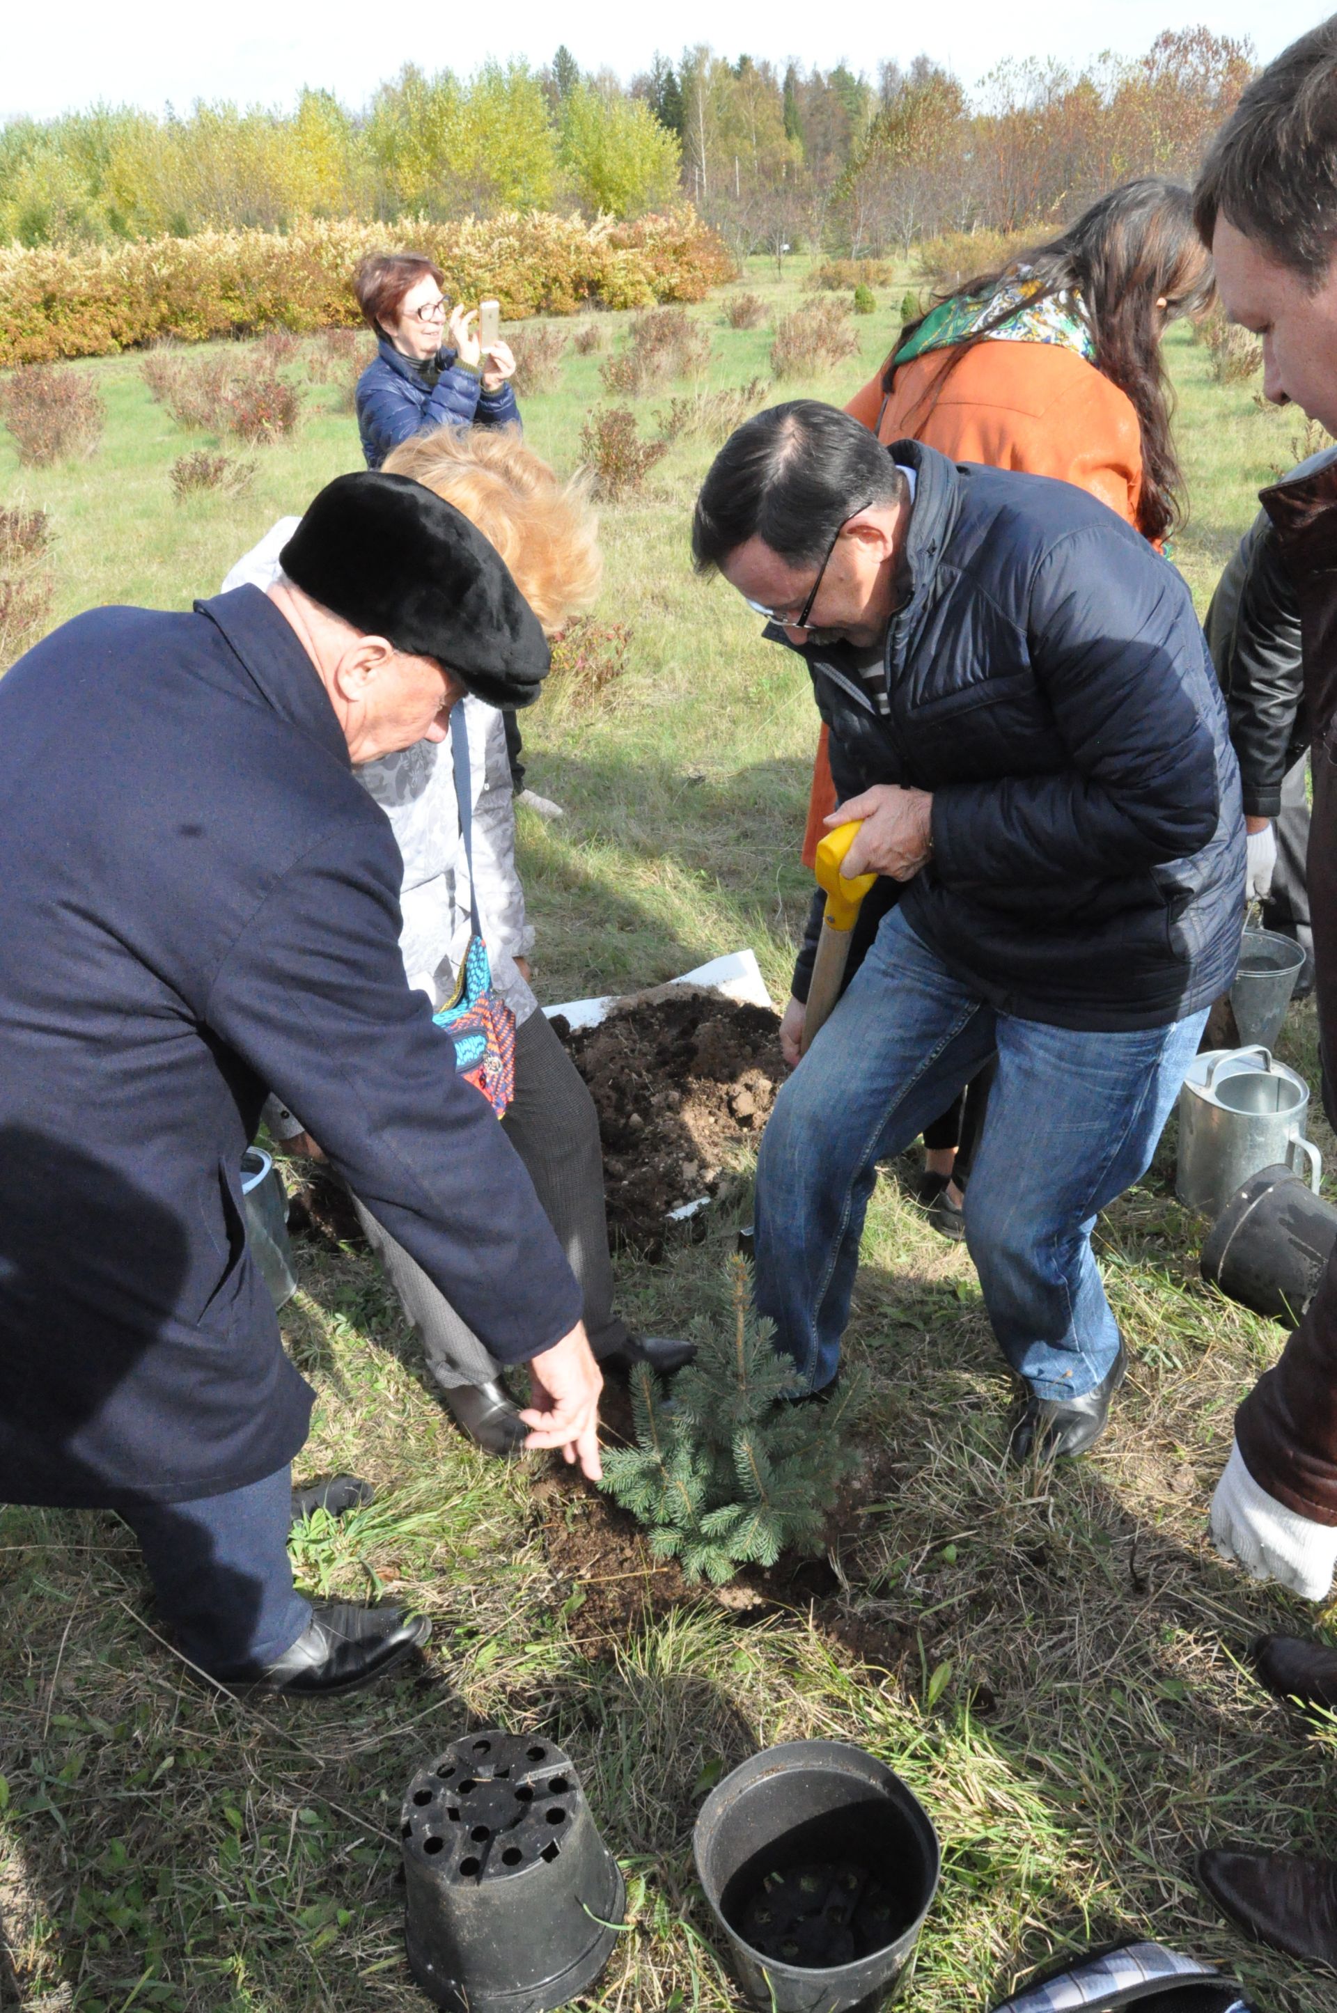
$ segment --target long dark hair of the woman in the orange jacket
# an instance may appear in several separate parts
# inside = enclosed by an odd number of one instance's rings
[[[1091,203],[1061,238],[1021,252],[995,272],[977,274],[942,300],[987,294],[999,282],[1027,278],[1025,306],[1055,294],[1081,294],[1095,368],[1126,393],[1142,429],[1142,491],[1138,529],[1144,537],[1164,537],[1184,515],[1184,475],[1170,435],[1174,399],[1160,356],[1166,322],[1180,314],[1200,314],[1212,302],[1212,266],[1194,229],[1192,197],[1176,181],[1142,175]],[[1158,308],[1156,302],[1166,306]],[[967,350],[1017,314],[1017,304],[999,308],[964,342],[956,344],[932,386],[936,405],[946,378]],[[924,316],[908,322],[896,348],[920,328]],[[896,350],[882,370],[882,389],[892,391]]]

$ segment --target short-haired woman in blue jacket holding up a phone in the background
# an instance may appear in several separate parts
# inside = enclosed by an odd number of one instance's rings
[[[415,433],[435,427],[517,427],[507,378],[515,358],[505,342],[487,356],[463,302],[447,322],[441,270],[421,252],[379,252],[352,280],[377,356],[356,386],[358,433],[368,469]],[[445,336],[445,342],[443,342]]]

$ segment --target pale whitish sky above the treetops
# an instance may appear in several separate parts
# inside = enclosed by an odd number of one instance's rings
[[[159,111],[195,99],[290,105],[302,85],[362,105],[405,62],[469,70],[485,56],[546,62],[566,42],[582,68],[608,64],[628,79],[656,48],[677,54],[709,42],[785,62],[848,62],[876,70],[884,56],[924,50],[973,85],[1003,56],[1081,60],[1101,48],[1134,54],[1160,28],[1204,20],[1218,34],[1252,36],[1265,60],[1323,14],[1297,0],[952,0],[950,6],[822,8],[811,0],[626,0],[485,4],[350,4],[350,0],[10,0],[0,46],[0,117],[87,107],[99,99]]]

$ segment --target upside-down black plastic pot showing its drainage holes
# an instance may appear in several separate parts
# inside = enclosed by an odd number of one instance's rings
[[[552,1741],[485,1727],[405,1798],[409,1969],[455,2013],[550,2013],[594,1983],[622,1922],[622,1872]]]

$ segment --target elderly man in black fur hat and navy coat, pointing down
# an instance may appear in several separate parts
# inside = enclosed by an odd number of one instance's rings
[[[598,1476],[580,1290],[491,1105],[411,992],[401,862],[352,765],[455,699],[538,696],[548,646],[429,489],[344,475],[268,592],[101,608],[0,684],[0,1498],[109,1506],[179,1649],[322,1695],[429,1624],[288,1568],[312,1391],[242,1226],[264,1091],[318,1125],[501,1363],[530,1445]]]

